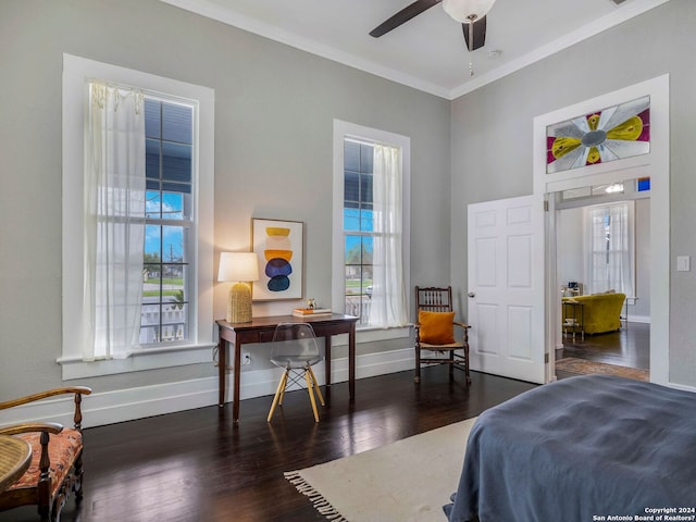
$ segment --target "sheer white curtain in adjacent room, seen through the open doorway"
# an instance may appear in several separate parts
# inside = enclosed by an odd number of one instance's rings
[[[633,202],[589,207],[586,213],[589,291],[634,296]]]

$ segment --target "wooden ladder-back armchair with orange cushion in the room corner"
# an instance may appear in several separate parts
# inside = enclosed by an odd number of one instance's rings
[[[421,382],[421,364],[449,364],[449,376],[455,369],[469,374],[469,325],[455,321],[452,287],[415,287],[415,377]],[[423,356],[424,352],[424,356]],[[435,357],[439,352],[440,357]],[[447,357],[442,357],[446,355]]]

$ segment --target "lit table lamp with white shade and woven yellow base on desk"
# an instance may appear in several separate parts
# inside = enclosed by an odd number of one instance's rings
[[[227,299],[228,323],[251,321],[251,282],[259,281],[259,260],[253,252],[222,252],[219,282],[232,282]]]

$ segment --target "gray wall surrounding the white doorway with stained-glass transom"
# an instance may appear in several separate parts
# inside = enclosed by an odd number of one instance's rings
[[[670,347],[672,383],[696,386],[695,272],[675,272],[693,256],[696,176],[691,136],[696,117],[696,2],[671,0],[452,102],[452,282],[467,288],[467,204],[533,191],[534,116],[670,74]]]

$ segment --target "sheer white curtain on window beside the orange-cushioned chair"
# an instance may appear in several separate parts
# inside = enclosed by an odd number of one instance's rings
[[[408,323],[408,314],[403,287],[403,191],[399,149],[374,146],[372,183],[374,250],[370,324],[402,326]]]

